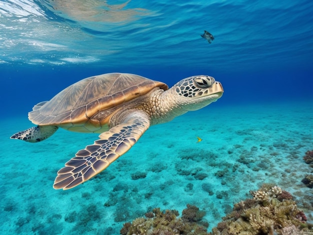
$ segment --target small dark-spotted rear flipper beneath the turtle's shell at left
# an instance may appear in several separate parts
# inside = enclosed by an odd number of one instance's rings
[[[50,137],[56,130],[57,126],[46,125],[46,126],[33,126],[23,131],[19,131],[13,134],[10,138],[21,139],[27,142],[39,142]]]

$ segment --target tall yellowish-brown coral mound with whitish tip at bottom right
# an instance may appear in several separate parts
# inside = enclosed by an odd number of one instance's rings
[[[313,232],[312,224],[292,200],[292,195],[273,184],[263,184],[250,191],[253,198],[234,204],[210,235],[261,235]]]

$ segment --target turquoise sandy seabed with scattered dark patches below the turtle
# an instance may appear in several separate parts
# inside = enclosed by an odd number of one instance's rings
[[[52,188],[56,171],[97,135],[60,129],[47,140],[25,143],[8,138],[29,126],[25,116],[5,119],[0,229],[118,234],[122,223],[147,209],[181,212],[187,203],[206,211],[211,228],[263,182],[291,192],[312,221],[312,189],[301,182],[311,171],[302,156],[312,147],[312,114],[311,102],[216,102],[150,127],[106,170],[66,191]],[[196,136],[203,140],[197,143]],[[145,177],[135,179],[140,174]]]

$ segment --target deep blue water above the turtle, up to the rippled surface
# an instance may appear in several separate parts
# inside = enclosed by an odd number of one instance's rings
[[[8,108],[24,112],[74,81],[113,71],[168,85],[208,74],[226,90],[219,105],[309,99],[312,4],[1,1],[2,99],[9,96]],[[203,30],[212,43],[200,37]]]

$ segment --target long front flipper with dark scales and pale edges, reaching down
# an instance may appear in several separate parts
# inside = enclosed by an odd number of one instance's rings
[[[69,189],[104,170],[124,154],[149,127],[149,117],[135,111],[123,118],[122,123],[99,135],[100,139],[79,150],[57,171],[53,187]]]

